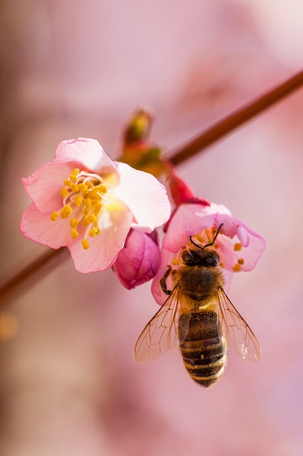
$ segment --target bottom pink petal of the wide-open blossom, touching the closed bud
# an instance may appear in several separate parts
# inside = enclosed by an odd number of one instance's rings
[[[102,214],[107,217],[108,213]],[[90,248],[85,250],[82,247],[80,237],[68,246],[70,254],[75,263],[75,269],[79,272],[103,271],[115,262],[117,254],[122,249],[130,226],[132,214],[130,212],[116,211],[110,214],[111,224],[105,229],[101,227],[101,233],[95,237],[88,237]]]

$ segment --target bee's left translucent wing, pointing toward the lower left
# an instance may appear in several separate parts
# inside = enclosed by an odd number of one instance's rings
[[[182,326],[178,331],[182,295],[175,286],[161,309],[147,323],[134,347],[134,359],[138,363],[157,358],[167,350],[179,345],[179,337],[184,340],[188,333],[188,321],[182,318]]]

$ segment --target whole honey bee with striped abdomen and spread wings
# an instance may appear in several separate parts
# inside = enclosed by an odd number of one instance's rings
[[[179,346],[189,375],[206,388],[223,374],[229,336],[242,358],[257,361],[261,355],[255,334],[225,294],[219,255],[210,248],[222,226],[204,246],[190,237],[190,243],[181,249],[181,266],[168,267],[160,285],[169,296],[134,348],[134,358],[140,363]],[[172,290],[167,288],[169,276]]]

